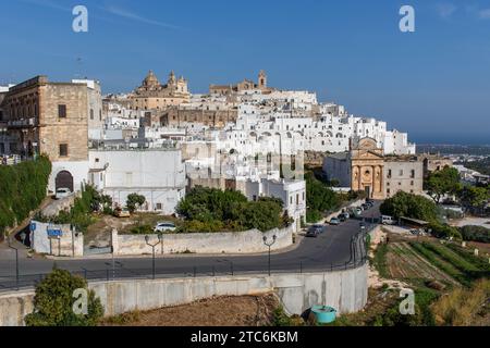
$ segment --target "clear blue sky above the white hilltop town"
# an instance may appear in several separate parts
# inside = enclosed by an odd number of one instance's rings
[[[85,4],[89,32],[72,32]],[[416,32],[399,10],[416,10]],[[154,70],[208,85],[256,78],[308,89],[416,141],[490,144],[487,0],[11,0],[0,12],[0,83],[87,76],[130,91]],[[81,62],[77,62],[81,58]]]

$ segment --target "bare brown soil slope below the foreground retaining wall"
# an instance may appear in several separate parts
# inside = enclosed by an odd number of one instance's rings
[[[262,296],[216,297],[191,304],[132,312],[106,320],[102,326],[264,326],[272,322],[279,301]]]

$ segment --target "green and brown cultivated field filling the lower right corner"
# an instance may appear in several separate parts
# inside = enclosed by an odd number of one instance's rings
[[[369,290],[366,309],[342,315],[335,326],[490,325],[490,264],[457,244],[390,235],[371,265],[387,281],[415,291],[415,315],[400,313],[400,289]]]

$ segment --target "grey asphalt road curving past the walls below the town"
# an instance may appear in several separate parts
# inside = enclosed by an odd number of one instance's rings
[[[378,204],[364,212],[364,217],[379,217]],[[359,233],[359,221],[348,220],[339,226],[326,227],[317,238],[304,238],[301,245],[286,252],[271,254],[271,270],[278,272],[320,271],[352,266],[352,238]],[[360,244],[359,244],[360,246]],[[356,258],[359,259],[357,247]],[[15,285],[15,253],[0,250],[0,290]],[[10,253],[10,258],[9,254]],[[351,263],[350,263],[351,262]],[[21,286],[29,286],[40,274],[49,273],[54,263],[58,268],[85,275],[87,278],[148,277],[152,274],[152,259],[85,259],[47,260],[20,258]],[[348,264],[347,264],[348,263]],[[267,272],[269,256],[157,256],[157,277],[199,276],[213,274],[240,274]],[[13,282],[13,283],[12,283]]]

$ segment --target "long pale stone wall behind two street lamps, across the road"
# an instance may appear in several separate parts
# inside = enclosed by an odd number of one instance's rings
[[[264,244],[264,236],[272,241],[277,236],[271,250],[280,250],[293,245],[294,225],[286,228],[275,228],[267,233],[258,229],[233,233],[193,233],[193,234],[164,234],[163,243],[155,250],[157,253],[255,253],[268,251]],[[146,244],[145,235],[119,235],[112,232],[114,254],[137,256],[151,253],[151,247]],[[149,244],[158,243],[157,235],[150,235]]]

